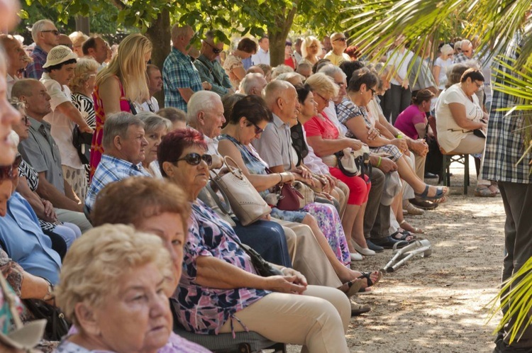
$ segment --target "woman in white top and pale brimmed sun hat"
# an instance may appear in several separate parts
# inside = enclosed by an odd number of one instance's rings
[[[82,114],[72,104],[70,89],[67,84],[74,76],[77,55],[65,45],[57,45],[48,52],[45,73],[40,79],[52,99],[52,112],[44,120],[52,125],[52,137],[57,142],[61,153],[63,177],[72,186],[74,193],[84,202],[87,192],[87,179],[81,159],[72,144],[72,131],[75,124],[84,133],[93,133]]]

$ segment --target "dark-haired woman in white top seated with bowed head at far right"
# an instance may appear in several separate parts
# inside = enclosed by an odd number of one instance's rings
[[[436,130],[440,148],[445,152],[469,155],[484,152],[486,139],[480,136],[487,132],[487,113],[482,111],[475,94],[483,87],[482,72],[467,69],[458,84],[440,94],[436,103]],[[479,179],[475,196],[495,196],[489,185],[489,181]]]

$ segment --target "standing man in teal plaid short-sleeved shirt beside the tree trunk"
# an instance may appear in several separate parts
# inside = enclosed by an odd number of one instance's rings
[[[189,57],[190,40],[194,37],[191,26],[172,27],[172,52],[162,65],[162,79],[165,88],[165,106],[187,111],[192,94],[202,89],[211,89],[209,82],[201,82],[198,69]]]

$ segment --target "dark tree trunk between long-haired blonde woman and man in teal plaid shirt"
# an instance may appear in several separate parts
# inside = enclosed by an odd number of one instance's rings
[[[170,54],[170,12],[163,9],[157,18],[150,24],[146,30],[146,37],[153,45],[152,50],[152,64],[157,65],[162,72],[162,63],[165,62],[166,57]],[[160,108],[165,106],[164,90],[155,94],[155,98],[159,102]]]

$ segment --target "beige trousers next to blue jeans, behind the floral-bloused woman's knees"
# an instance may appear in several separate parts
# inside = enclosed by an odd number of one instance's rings
[[[306,277],[308,284],[332,288],[342,285],[308,225],[276,218],[272,218],[272,221],[283,226],[288,251],[292,257],[292,267]]]

